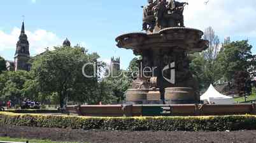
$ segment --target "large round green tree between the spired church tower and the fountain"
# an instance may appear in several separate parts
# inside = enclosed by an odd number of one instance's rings
[[[61,108],[65,99],[90,103],[97,87],[97,76],[85,77],[82,67],[97,63],[98,58],[96,53],[88,54],[83,47],[55,47],[54,51],[46,51],[34,59],[32,73],[43,94],[57,93]],[[94,75],[94,66],[88,65],[83,71]]]

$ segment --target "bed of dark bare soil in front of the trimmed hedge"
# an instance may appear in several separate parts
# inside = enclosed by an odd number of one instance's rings
[[[128,132],[0,125],[1,137],[76,142],[256,142],[256,131]]]

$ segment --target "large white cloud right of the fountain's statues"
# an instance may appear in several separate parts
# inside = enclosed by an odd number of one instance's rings
[[[184,11],[185,25],[204,30],[213,27],[217,34],[255,37],[256,1],[191,0]]]

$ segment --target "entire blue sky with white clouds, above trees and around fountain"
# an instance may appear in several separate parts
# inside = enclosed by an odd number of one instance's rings
[[[208,5],[204,5],[204,0],[187,1],[187,27],[204,30],[212,26],[221,41],[230,36],[231,40],[248,39],[256,46],[255,0],[248,0],[243,6],[236,0],[210,0]],[[104,61],[120,56],[122,67],[127,68],[134,56],[132,51],[115,46],[115,37],[141,30],[140,6],[144,4],[146,0],[2,0],[0,56],[13,60],[25,15],[32,56],[45,47],[61,45],[68,37],[73,46],[85,46]]]

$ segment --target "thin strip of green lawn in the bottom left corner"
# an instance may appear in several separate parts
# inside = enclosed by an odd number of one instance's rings
[[[50,140],[35,140],[35,139],[13,139],[10,137],[0,137],[1,141],[7,141],[7,142],[26,142],[27,140],[29,141],[29,143],[61,143],[61,142],[52,142]],[[64,143],[64,142],[62,142]],[[66,142],[66,143],[71,143],[71,142]],[[72,142],[75,143],[75,142]]]

